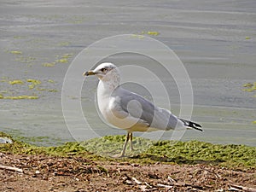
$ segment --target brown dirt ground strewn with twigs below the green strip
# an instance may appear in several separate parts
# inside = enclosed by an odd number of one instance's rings
[[[3,153],[0,166],[0,191],[256,191],[255,169]]]

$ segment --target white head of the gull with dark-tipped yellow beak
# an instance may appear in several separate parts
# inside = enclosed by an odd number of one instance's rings
[[[101,81],[116,81],[119,84],[119,69],[113,63],[103,62],[94,70],[83,73],[84,76],[96,75]]]

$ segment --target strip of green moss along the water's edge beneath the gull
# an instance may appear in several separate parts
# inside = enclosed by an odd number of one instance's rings
[[[14,140],[0,132],[0,137],[8,137],[14,143],[0,144],[0,152],[10,154],[42,154],[52,156],[76,156],[89,160],[129,161],[141,164],[156,162],[171,164],[207,164],[232,169],[255,169],[256,147],[235,144],[212,144],[198,141],[154,142],[135,137],[135,151],[127,151],[125,158],[113,158],[121,151],[124,136],[107,136],[91,139],[82,143],[65,143],[58,147],[38,147]]]

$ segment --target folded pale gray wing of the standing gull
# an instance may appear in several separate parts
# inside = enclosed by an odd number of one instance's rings
[[[149,127],[159,130],[175,129],[177,123],[181,123],[170,111],[157,108],[142,96],[131,91],[117,88],[113,96],[119,97],[119,109],[129,113],[132,117],[142,119]]]

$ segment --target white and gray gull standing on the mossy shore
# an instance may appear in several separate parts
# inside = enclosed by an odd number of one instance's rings
[[[120,87],[119,68],[113,63],[103,62],[84,76],[96,75],[98,108],[104,119],[111,125],[127,131],[121,157],[125,156],[127,143],[131,142],[134,131],[168,131],[177,129],[195,129],[202,131],[201,125],[177,118],[171,111],[158,108],[143,96]]]

